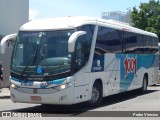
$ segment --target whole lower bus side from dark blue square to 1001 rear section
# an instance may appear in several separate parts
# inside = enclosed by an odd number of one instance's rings
[[[149,85],[157,82],[158,57],[153,54],[107,53],[102,58],[94,60],[90,79],[103,81],[104,96],[141,88],[145,73]]]

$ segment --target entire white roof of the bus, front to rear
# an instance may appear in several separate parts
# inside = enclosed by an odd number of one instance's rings
[[[106,27],[116,28],[124,31],[135,32],[139,34],[149,35],[157,37],[156,34],[147,32],[135,27],[132,27],[126,23],[122,23],[115,20],[104,20],[95,17],[56,17],[56,18],[45,18],[39,20],[33,20],[24,24],[20,31],[47,31],[47,30],[62,30],[62,29],[73,29],[75,27],[94,24],[102,25]]]

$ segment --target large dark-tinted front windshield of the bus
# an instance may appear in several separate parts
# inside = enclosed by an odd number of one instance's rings
[[[75,30],[19,32],[11,71],[20,75],[53,75],[69,72],[72,55],[68,40]]]

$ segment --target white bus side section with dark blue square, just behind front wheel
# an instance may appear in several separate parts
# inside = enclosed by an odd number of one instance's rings
[[[90,81],[92,84],[97,79],[102,80],[103,96],[119,93],[120,61],[116,59],[115,54],[104,54],[94,59],[91,70]]]

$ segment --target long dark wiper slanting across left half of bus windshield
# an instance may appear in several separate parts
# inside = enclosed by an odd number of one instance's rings
[[[35,54],[31,57],[31,59],[28,61],[27,65],[24,67],[23,71],[21,72],[21,77],[23,77],[23,74],[25,73],[25,71],[27,70],[28,66],[30,65],[30,63],[32,61],[32,58],[33,58],[33,65],[35,64],[36,59],[37,59],[37,54],[38,54],[38,48],[39,48],[39,46],[37,46]]]

